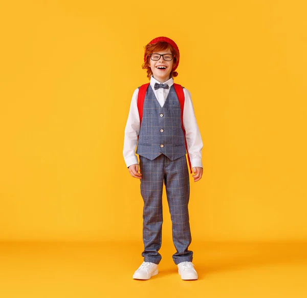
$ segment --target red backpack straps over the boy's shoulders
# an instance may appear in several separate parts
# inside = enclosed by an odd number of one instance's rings
[[[145,100],[145,94],[147,91],[147,88],[149,86],[150,83],[144,84],[140,87],[139,89],[139,94],[138,94],[138,110],[139,110],[139,115],[140,115],[140,127],[141,127],[141,123],[142,123],[142,117],[143,117],[143,105],[144,105],[144,100]],[[184,134],[184,141],[185,141],[185,145],[186,145],[186,150],[187,150],[187,154],[188,154],[188,162],[189,162],[189,166],[190,166],[190,172],[192,173],[192,167],[191,167],[191,161],[190,161],[190,156],[188,153],[188,145],[187,145],[187,140],[186,140],[186,136],[185,136],[185,129],[183,127],[183,107],[184,107],[184,93],[183,93],[183,89],[182,86],[179,84],[173,84],[179,103],[180,103],[180,108],[181,108],[181,128],[183,130],[183,134]],[[139,136],[138,136],[138,140],[139,140]]]

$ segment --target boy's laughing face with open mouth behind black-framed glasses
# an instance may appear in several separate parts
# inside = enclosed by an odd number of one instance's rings
[[[156,52],[156,53],[157,54],[170,54],[170,55],[172,55],[169,48],[166,49],[165,51],[159,51],[159,52]],[[149,58],[149,66],[151,68],[153,77],[157,81],[159,81],[160,83],[164,83],[167,80],[169,80],[169,74],[172,70],[173,61],[174,61],[174,59],[172,59],[171,61],[165,61],[162,56],[157,61],[153,61],[153,60],[151,60],[151,58]],[[164,66],[165,68],[162,68],[162,66]],[[158,67],[160,67],[160,68],[158,68]]]

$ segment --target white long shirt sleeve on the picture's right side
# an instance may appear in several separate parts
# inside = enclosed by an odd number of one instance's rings
[[[188,154],[190,156],[192,167],[202,168],[202,136],[196,122],[194,108],[191,100],[191,93],[185,88],[183,89],[183,91],[185,95],[185,103],[183,109],[183,126],[186,131]]]

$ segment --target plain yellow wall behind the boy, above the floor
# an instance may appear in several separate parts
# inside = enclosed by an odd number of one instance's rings
[[[124,127],[143,47],[164,35],[204,143],[193,239],[306,240],[306,6],[150,5],[2,2],[0,239],[141,239]],[[171,240],[165,196],[164,211]]]

